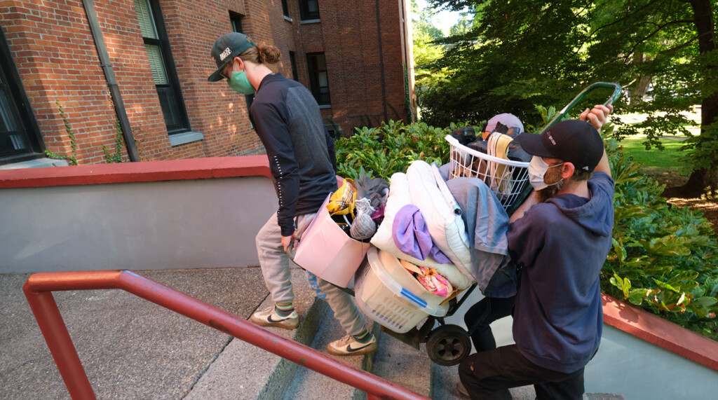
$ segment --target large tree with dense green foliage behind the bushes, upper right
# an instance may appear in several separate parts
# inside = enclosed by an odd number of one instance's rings
[[[475,10],[471,29],[444,39],[437,65],[447,80],[426,90],[424,121],[477,123],[496,113],[526,117],[537,104],[564,105],[591,82],[619,82],[616,113],[645,113],[617,138],[645,133],[647,148],[682,133],[692,172],[666,189],[694,197],[718,189],[718,52],[714,0],[432,0],[436,8]],[[651,87],[653,101],[643,100]],[[594,98],[587,98],[592,104]],[[701,105],[701,132],[685,111]]]

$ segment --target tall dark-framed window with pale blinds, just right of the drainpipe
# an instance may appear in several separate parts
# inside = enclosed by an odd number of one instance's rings
[[[190,130],[190,120],[187,118],[185,101],[182,100],[180,80],[174,69],[159,3],[157,0],[134,0],[134,6],[167,133],[174,135],[187,132]]]

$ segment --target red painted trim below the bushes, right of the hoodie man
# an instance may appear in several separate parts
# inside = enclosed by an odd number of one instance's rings
[[[718,342],[609,295],[602,303],[604,323],[718,371]]]

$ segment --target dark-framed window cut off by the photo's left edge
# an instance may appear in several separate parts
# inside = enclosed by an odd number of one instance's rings
[[[0,164],[41,158],[42,139],[0,27]],[[24,108],[19,107],[25,105]]]

